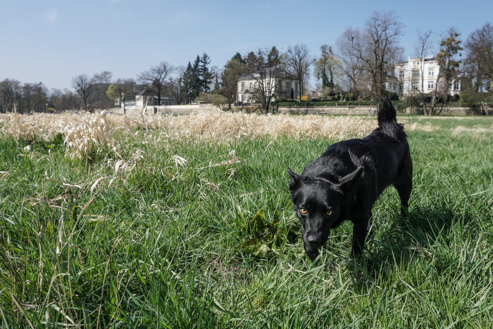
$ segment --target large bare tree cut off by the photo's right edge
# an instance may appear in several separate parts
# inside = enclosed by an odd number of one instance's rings
[[[464,70],[473,89],[476,92],[488,91],[489,98],[493,100],[493,24],[486,23],[471,33],[464,48]]]

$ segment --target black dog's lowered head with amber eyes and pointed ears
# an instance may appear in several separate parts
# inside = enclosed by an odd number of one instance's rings
[[[332,224],[345,216],[345,207],[363,167],[342,177],[337,183],[297,175],[289,167],[287,172],[291,178],[288,185],[291,201],[303,225],[303,240],[312,247],[320,247],[327,242]]]

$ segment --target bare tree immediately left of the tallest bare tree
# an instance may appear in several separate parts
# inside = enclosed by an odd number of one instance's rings
[[[342,86],[349,89],[350,93],[357,94],[364,66],[361,57],[366,57],[365,48],[356,51],[356,45],[364,45],[363,36],[359,29],[348,28],[336,39],[336,56],[341,63],[344,73]],[[361,55],[361,56],[360,56]]]

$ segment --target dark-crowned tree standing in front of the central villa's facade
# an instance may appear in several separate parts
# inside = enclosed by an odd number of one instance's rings
[[[255,81],[250,91],[253,99],[262,105],[262,113],[268,113],[275,91],[280,83],[281,59],[276,47],[259,49],[246,56],[246,76]]]

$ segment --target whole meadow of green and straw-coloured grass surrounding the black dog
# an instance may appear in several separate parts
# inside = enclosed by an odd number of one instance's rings
[[[409,218],[388,188],[313,264],[285,168],[373,118],[93,118],[0,117],[0,328],[493,327],[491,118],[399,117]]]

